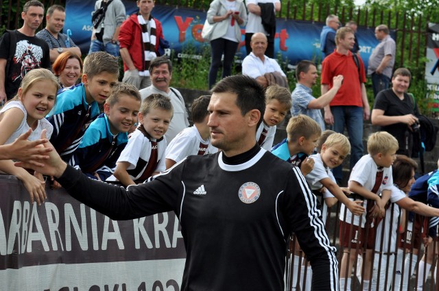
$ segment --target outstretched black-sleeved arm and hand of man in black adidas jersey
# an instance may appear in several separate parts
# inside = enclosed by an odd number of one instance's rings
[[[17,162],[15,165],[32,168],[43,175],[54,176],[73,198],[113,220],[128,220],[174,210],[172,206],[176,205],[174,202],[178,199],[176,191],[179,187],[166,183],[164,181],[166,179],[132,186],[127,190],[121,186],[89,179],[80,170],[68,166],[50,142],[46,142],[44,147],[52,149],[48,160],[29,159],[25,162]],[[44,166],[36,166],[36,163]],[[170,179],[168,178],[167,181]]]

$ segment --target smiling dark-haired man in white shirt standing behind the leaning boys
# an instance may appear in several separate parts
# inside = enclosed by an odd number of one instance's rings
[[[150,63],[150,77],[152,85],[140,90],[142,100],[150,94],[162,94],[171,99],[174,108],[174,116],[166,131],[166,140],[171,142],[176,135],[189,127],[188,114],[185,100],[178,90],[169,87],[172,78],[172,64],[166,57],[158,57]]]

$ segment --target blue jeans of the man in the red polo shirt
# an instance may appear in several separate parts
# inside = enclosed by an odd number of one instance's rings
[[[351,142],[351,165],[353,166],[363,156],[363,107],[358,106],[331,106],[334,116],[333,131],[344,133],[348,129],[349,142]],[[332,173],[340,183],[343,179],[342,166],[333,168]]]

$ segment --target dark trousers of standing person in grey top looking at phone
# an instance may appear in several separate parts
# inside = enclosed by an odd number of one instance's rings
[[[221,66],[221,57],[224,53],[224,62],[222,64],[222,78],[228,77],[232,73],[233,58],[238,48],[238,42],[226,40],[225,38],[216,38],[211,40],[211,68],[209,68],[209,90],[217,82],[217,73]]]

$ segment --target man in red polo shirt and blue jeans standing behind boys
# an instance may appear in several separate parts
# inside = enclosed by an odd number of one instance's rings
[[[363,155],[363,119],[368,120],[370,108],[366,95],[366,74],[364,64],[351,49],[355,44],[354,32],[349,27],[342,27],[335,35],[337,49],[322,62],[321,90],[325,94],[333,87],[333,77],[343,75],[343,84],[334,99],[324,107],[324,121],[333,130],[344,133],[348,130],[351,142],[351,168]],[[342,181],[342,166],[334,168],[333,174],[337,183]]]

